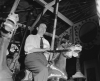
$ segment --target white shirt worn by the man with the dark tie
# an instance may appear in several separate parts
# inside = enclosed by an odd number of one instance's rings
[[[33,48],[40,48],[40,36],[38,34],[31,34],[26,38],[24,47],[25,52],[29,54],[31,53],[30,50],[32,50]],[[43,48],[50,48],[50,44],[45,38],[43,38]]]

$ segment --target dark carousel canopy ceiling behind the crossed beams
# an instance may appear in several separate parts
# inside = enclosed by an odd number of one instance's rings
[[[4,20],[9,14],[14,0],[0,0],[0,19]],[[45,8],[45,5],[53,4],[51,10],[47,10],[39,22],[45,22],[48,26],[47,32],[53,32],[54,26],[54,8],[53,0],[20,0],[16,13],[19,14],[21,24],[27,24],[30,17],[29,26],[32,26],[39,14]],[[95,0],[60,0],[58,11],[60,15],[57,19],[56,35],[62,34],[71,27],[71,24],[78,23],[96,15]],[[70,24],[69,24],[70,23]],[[20,31],[19,31],[20,32]]]

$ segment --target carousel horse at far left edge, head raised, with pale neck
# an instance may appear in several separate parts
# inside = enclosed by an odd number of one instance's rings
[[[14,13],[14,9],[16,8],[13,8],[0,28],[0,81],[13,81],[12,73],[6,63],[6,53],[10,40],[18,28],[17,22],[19,21],[19,17],[18,14]]]

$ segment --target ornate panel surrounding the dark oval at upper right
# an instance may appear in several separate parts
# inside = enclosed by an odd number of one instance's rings
[[[95,27],[97,27],[97,32],[96,32],[96,36],[94,37],[93,40],[90,40],[89,42],[83,42],[80,39],[80,31],[81,31],[82,26],[84,24],[87,24],[87,23],[95,24]],[[88,28],[89,27],[87,27],[87,29]],[[84,32],[86,32],[86,31],[84,31]],[[81,21],[79,23],[74,24],[74,26],[73,26],[73,35],[74,35],[73,36],[74,37],[74,43],[75,44],[82,44],[82,46],[85,49],[91,49],[94,45],[100,44],[100,28],[99,28],[97,16],[91,17],[91,18],[89,18],[87,20],[84,20],[84,21]]]

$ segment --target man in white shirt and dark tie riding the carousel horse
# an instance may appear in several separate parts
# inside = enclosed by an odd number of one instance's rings
[[[50,50],[49,42],[43,37],[46,32],[46,25],[41,23],[37,27],[36,35],[29,35],[25,41],[25,66],[33,74],[34,81],[47,81],[48,77],[48,61],[44,55]],[[40,48],[40,40],[43,39],[43,48]]]

